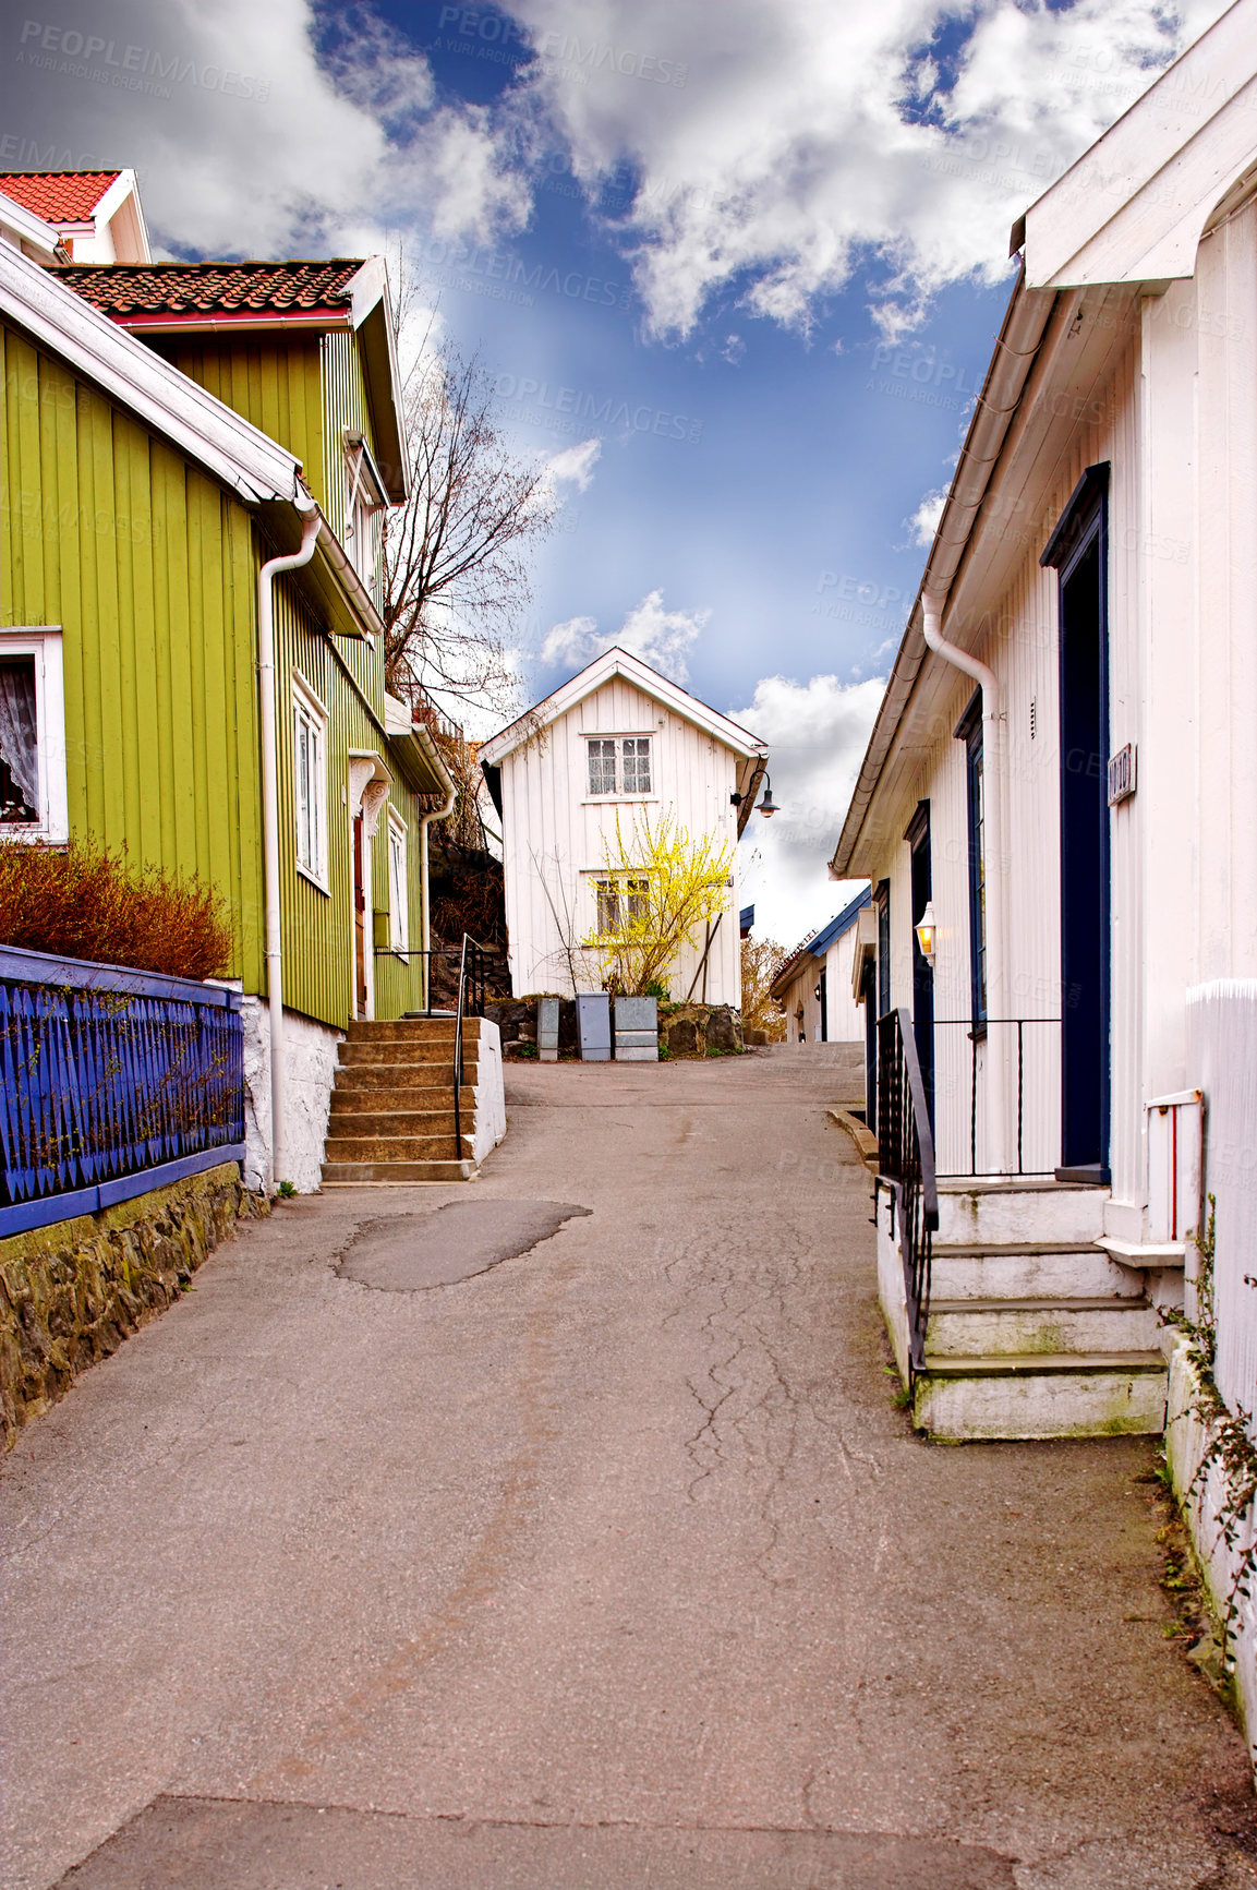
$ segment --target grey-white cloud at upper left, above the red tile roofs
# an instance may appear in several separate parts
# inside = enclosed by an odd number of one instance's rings
[[[397,229],[486,240],[524,227],[512,125],[437,102],[423,53],[369,8],[338,9],[323,60],[329,15],[308,0],[112,0],[108,13],[119,51],[142,55],[142,89],[47,55],[23,64],[8,163],[40,166],[53,147],[57,164],[134,164],[166,249],[361,255]],[[95,0],[66,0],[57,21],[76,43],[106,30]],[[9,42],[21,51],[17,25]]]

